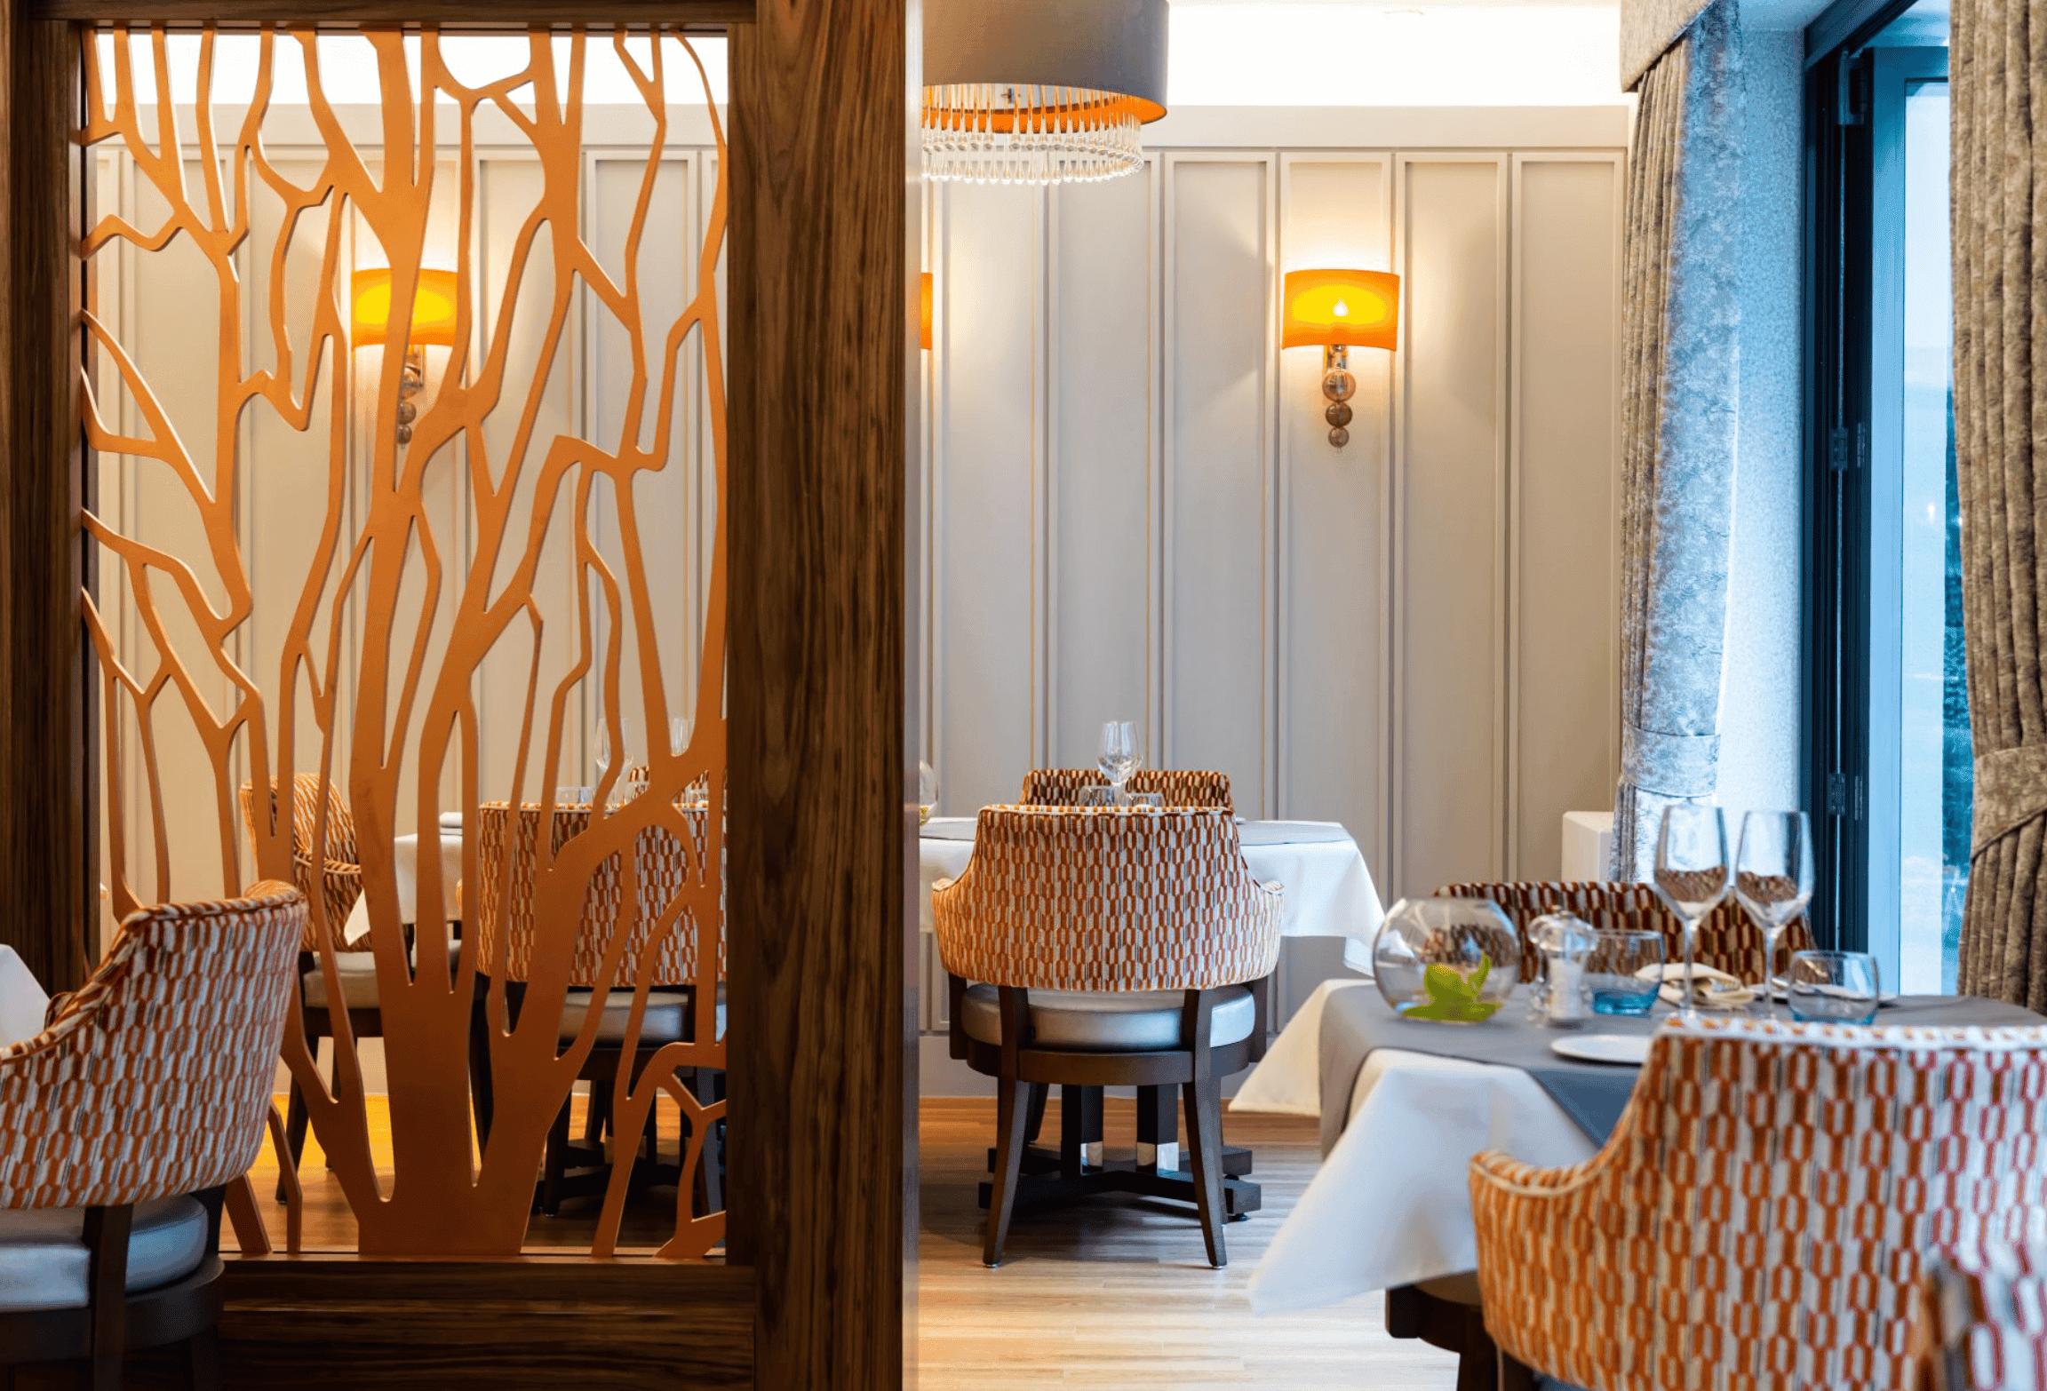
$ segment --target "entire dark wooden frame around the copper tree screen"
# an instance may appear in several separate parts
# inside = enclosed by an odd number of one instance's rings
[[[51,986],[90,968],[96,918],[88,653],[90,503],[76,411],[82,160],[76,25],[497,23],[502,0],[0,0],[0,941]],[[690,1317],[700,1291],[751,1385],[905,1383],[917,1229],[915,1080],[915,0],[526,0],[520,20],[731,27],[729,419],[729,1131],[727,1264],[602,1264],[612,1307],[641,1289]],[[72,196],[51,196],[70,190]],[[51,468],[49,460],[61,460]],[[250,1262],[252,1266],[256,1262]],[[264,1262],[274,1272],[272,1262]],[[579,1270],[577,1262],[567,1262]],[[561,1303],[565,1262],[463,1266],[475,1297]],[[293,1266],[242,1285],[242,1317],[301,1371],[350,1364],[350,1311],[403,1305],[409,1344],[377,1379],[506,1385],[534,1336],[463,1362],[461,1307],[393,1262]],[[718,1274],[725,1272],[725,1274]],[[596,1278],[596,1276],[592,1276]],[[268,1285],[266,1295],[262,1285]],[[461,1285],[461,1283],[456,1283]],[[317,1291],[336,1319],[305,1319]],[[737,1303],[735,1303],[737,1301]],[[459,1303],[459,1301],[456,1301]],[[276,1317],[264,1321],[264,1309]],[[295,1307],[295,1311],[293,1311]],[[708,1311],[708,1309],[706,1309]],[[276,1364],[229,1383],[266,1385]],[[297,1319],[297,1321],[293,1321]],[[514,1323],[506,1319],[508,1328]],[[628,1321],[620,1321],[624,1326]],[[360,1330],[362,1321],[356,1319]],[[450,1334],[436,1342],[436,1328]],[[557,1326],[559,1328],[559,1326]],[[356,1338],[354,1342],[360,1342]],[[450,1356],[454,1360],[450,1360]],[[741,1385],[735,1344],[692,1385]],[[686,1366],[676,1371],[688,1373]],[[735,1381],[739,1379],[739,1381]],[[313,1385],[305,1379],[301,1385]],[[428,1385],[413,1381],[411,1385]],[[630,1385],[612,1381],[606,1385]]]

